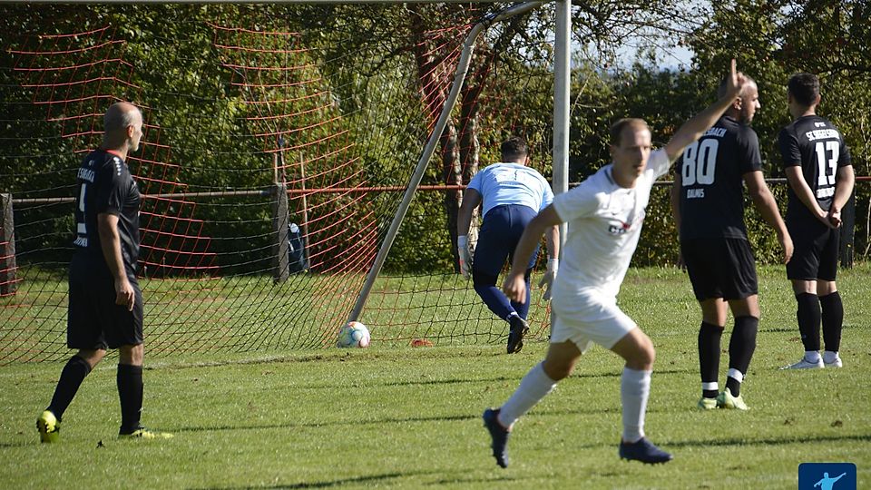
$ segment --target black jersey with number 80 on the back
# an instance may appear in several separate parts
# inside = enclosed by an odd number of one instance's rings
[[[680,156],[680,240],[747,239],[743,175],[762,168],[759,140],[729,116]]]

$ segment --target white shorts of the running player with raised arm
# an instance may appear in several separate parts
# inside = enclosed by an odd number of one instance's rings
[[[638,328],[631,318],[617,308],[615,298],[582,294],[567,303],[553,303],[552,344],[571,340],[582,353],[591,347],[592,342],[611,349],[633,328]]]

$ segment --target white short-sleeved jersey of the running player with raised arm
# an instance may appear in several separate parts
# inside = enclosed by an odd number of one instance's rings
[[[632,189],[617,185],[612,167],[605,165],[553,198],[553,208],[569,229],[553,282],[554,308],[588,294],[617,296],[638,245],[653,182],[669,171],[670,161],[665,150],[652,152]]]

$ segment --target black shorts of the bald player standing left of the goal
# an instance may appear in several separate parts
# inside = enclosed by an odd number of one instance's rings
[[[115,304],[114,280],[83,264],[70,267],[66,345],[69,348],[104,349],[142,344],[142,291],[130,278],[135,293],[133,310]]]

